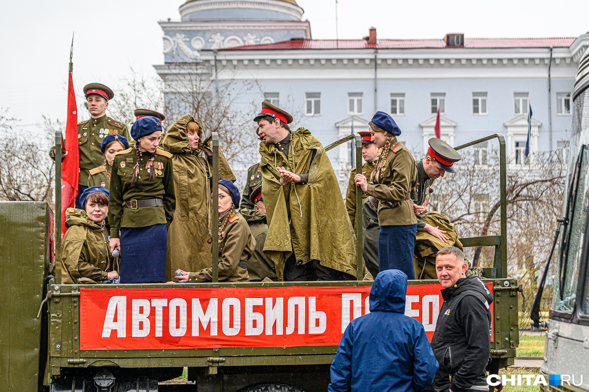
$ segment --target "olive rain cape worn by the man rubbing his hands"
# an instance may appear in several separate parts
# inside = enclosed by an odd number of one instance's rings
[[[268,221],[264,254],[276,264],[279,280],[283,280],[284,261],[293,250],[300,264],[319,260],[326,267],[356,276],[354,231],[329,157],[307,129],[299,128],[291,135],[288,160],[273,144],[260,143],[262,198]],[[280,185],[276,167],[295,174],[309,172],[309,182]]]

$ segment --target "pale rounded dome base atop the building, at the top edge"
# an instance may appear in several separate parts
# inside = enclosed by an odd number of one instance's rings
[[[183,21],[300,21],[295,0],[188,0],[180,6]]]

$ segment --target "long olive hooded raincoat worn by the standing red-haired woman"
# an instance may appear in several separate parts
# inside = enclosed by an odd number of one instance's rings
[[[186,125],[198,124],[198,148],[190,150]],[[168,251],[166,257],[166,281],[171,281],[174,271],[199,271],[213,263],[210,227],[211,176],[213,175],[211,155],[212,142],[203,140],[203,127],[191,115],[186,115],[171,125],[160,146],[171,152],[174,166],[174,191],[176,211],[168,229]],[[204,157],[202,153],[205,153]],[[235,181],[236,178],[219,148],[219,178]],[[237,207],[237,206],[236,206]]]

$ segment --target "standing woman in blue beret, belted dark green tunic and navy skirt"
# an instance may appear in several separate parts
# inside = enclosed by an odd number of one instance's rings
[[[158,118],[137,119],[131,137],[133,148],[112,162],[110,248],[121,253],[121,283],[164,282],[167,228],[176,210],[172,155],[158,147]]]

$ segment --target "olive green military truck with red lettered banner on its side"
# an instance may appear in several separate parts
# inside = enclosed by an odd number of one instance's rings
[[[211,137],[216,183],[219,141]],[[501,234],[461,242],[495,248],[484,281],[495,297],[488,370],[498,373],[514,363],[521,291],[507,275],[505,140],[496,134],[458,149],[494,138],[501,158]],[[326,150],[350,139],[359,165],[358,134]],[[59,160],[56,171],[61,211]],[[356,196],[361,214],[359,188]],[[218,283],[216,249],[214,283],[61,284],[61,215],[46,202],[0,202],[0,220],[0,295],[6,301],[0,307],[0,390],[325,391],[346,325],[369,312],[371,281]],[[357,236],[361,279],[361,230]],[[406,314],[423,323],[430,340],[440,289],[436,280],[408,282]],[[188,383],[158,384],[185,367]]]

